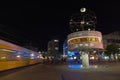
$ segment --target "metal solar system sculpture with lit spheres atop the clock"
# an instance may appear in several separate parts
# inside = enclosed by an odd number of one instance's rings
[[[69,25],[73,32],[81,30],[94,30],[97,23],[96,15],[93,11],[81,8],[80,13],[71,16]]]

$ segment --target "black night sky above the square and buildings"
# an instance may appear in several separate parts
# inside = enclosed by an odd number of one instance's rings
[[[0,8],[0,37],[20,45],[32,43],[40,50],[46,50],[48,41],[57,38],[62,47],[70,33],[70,16],[81,7],[96,13],[96,30],[103,34],[120,31],[120,4],[105,1],[29,1],[14,2],[13,6],[12,2],[5,3]]]

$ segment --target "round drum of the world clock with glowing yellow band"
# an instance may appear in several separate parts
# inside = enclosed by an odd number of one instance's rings
[[[99,31],[78,31],[68,35],[68,50],[103,49],[102,34]]]

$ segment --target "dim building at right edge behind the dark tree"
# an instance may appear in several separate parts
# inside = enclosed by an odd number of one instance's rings
[[[118,44],[120,45],[120,31],[115,31],[107,35],[103,35],[103,46],[106,49],[107,45]]]

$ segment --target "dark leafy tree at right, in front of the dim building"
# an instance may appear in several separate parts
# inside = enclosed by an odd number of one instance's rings
[[[115,58],[115,54],[119,53],[119,48],[120,46],[117,44],[110,44],[107,46],[105,54],[110,56],[111,54],[113,54],[114,58]],[[116,58],[115,58],[116,59]]]

